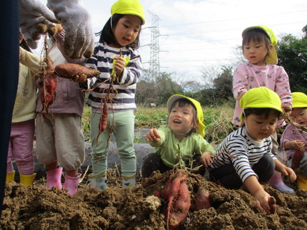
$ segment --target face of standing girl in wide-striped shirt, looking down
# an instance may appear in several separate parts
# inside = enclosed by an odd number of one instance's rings
[[[131,14],[126,14],[119,19],[114,28],[114,37],[117,43],[119,43],[119,47],[116,48],[133,43],[141,30],[141,24],[141,18]]]

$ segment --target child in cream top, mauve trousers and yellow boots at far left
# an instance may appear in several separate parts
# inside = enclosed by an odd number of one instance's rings
[[[20,183],[29,186],[36,176],[33,155],[36,109],[34,74],[39,71],[41,58],[31,53],[21,33],[19,33],[19,43],[19,83],[11,120],[6,182],[14,180],[12,161],[15,160],[19,169]]]

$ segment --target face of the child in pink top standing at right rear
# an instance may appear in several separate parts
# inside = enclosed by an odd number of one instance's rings
[[[271,45],[272,46],[272,45]],[[244,57],[250,63],[256,66],[266,66],[266,54],[268,53],[268,48],[264,41],[250,41],[243,46]]]

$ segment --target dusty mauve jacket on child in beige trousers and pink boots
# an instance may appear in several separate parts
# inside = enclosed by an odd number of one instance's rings
[[[49,56],[54,61],[54,66],[63,63],[78,63],[83,65],[86,58],[71,59],[64,54],[65,31],[56,34],[56,42],[49,40]],[[56,98],[49,107],[49,113],[75,113],[82,116],[84,109],[84,92],[81,91],[79,83],[66,78],[57,78]],[[41,112],[42,105],[40,97],[37,97],[36,112]]]

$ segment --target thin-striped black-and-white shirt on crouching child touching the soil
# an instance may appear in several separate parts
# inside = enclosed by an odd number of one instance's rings
[[[273,160],[276,159],[271,153],[271,137],[266,137],[262,142],[256,142],[246,132],[246,127],[240,127],[238,130],[231,132],[216,148],[213,163],[210,169],[215,169],[226,164],[233,164],[237,174],[241,177],[242,182],[247,177],[257,174],[253,172],[253,164],[256,164],[264,154],[271,155]]]

